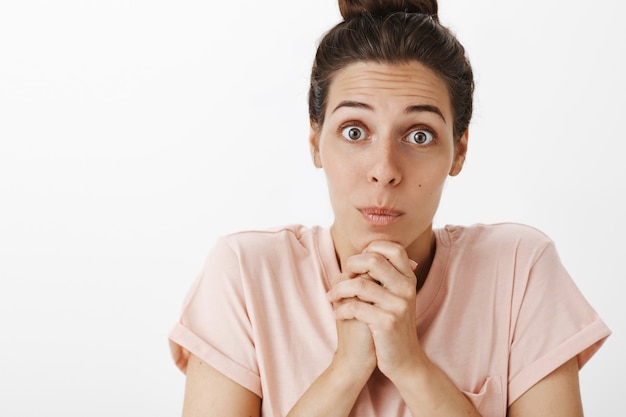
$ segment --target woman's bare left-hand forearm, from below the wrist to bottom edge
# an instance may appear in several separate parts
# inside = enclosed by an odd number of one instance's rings
[[[354,372],[331,365],[313,382],[287,417],[346,417],[350,414],[371,372]]]

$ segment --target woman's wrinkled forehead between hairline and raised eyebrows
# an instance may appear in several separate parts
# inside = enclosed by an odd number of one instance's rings
[[[425,104],[451,115],[445,82],[419,62],[381,64],[356,62],[339,71],[328,92],[328,108],[346,99],[360,99],[400,106]],[[450,120],[446,117],[447,120]]]

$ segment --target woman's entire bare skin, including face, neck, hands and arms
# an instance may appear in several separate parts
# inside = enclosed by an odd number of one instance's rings
[[[467,149],[467,132],[454,138],[452,124],[446,85],[419,63],[356,63],[333,80],[326,121],[311,127],[310,144],[335,213],[342,272],[328,299],[338,346],[289,417],[348,416],[376,367],[414,417],[479,416],[430,361],[415,326],[417,289],[435,249],[432,219]],[[259,416],[260,403],[192,356],[184,416]],[[582,416],[576,359],[523,394],[508,415]]]

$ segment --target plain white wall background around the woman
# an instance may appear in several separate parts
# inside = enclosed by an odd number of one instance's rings
[[[178,415],[167,333],[213,240],[330,223],[306,94],[336,3],[213,3],[0,1],[0,415]],[[556,241],[614,331],[582,370],[586,413],[620,415],[626,7],[440,8],[477,92],[437,224]]]

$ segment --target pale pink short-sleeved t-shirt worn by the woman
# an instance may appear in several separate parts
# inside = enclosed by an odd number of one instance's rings
[[[484,417],[503,417],[532,385],[611,333],[563,268],[554,244],[517,224],[435,230],[437,250],[417,294],[417,333],[429,358]],[[328,228],[288,226],[221,238],[170,333],[189,352],[282,417],[328,366],[337,343],[326,298],[339,274]],[[411,416],[374,373],[352,416]]]

